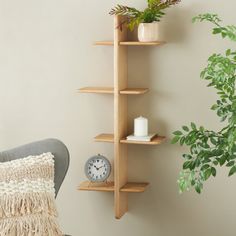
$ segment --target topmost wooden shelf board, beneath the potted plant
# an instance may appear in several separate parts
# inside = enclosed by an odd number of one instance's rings
[[[155,42],[139,42],[139,41],[127,41],[127,42],[119,42],[121,46],[159,46],[165,44],[164,41],[155,41]],[[113,46],[113,41],[97,41],[94,45],[101,45],[101,46]]]

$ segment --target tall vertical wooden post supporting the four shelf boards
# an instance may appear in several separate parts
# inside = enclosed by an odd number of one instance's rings
[[[122,17],[114,20],[114,161],[115,161],[115,217],[120,219],[128,211],[128,195],[120,189],[128,182],[127,145],[120,140],[127,135],[127,97],[120,90],[127,88],[127,47],[120,46],[120,41],[127,41],[127,29],[122,31],[117,26]]]

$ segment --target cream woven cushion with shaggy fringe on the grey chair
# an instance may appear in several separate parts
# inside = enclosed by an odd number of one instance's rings
[[[51,153],[0,163],[0,236],[62,236],[54,197]]]

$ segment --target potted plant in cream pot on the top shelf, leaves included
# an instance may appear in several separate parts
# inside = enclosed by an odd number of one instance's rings
[[[138,26],[138,39],[140,42],[158,40],[158,22],[165,15],[164,10],[179,3],[180,0],[147,0],[147,8],[143,11],[133,7],[117,5],[110,11],[110,15],[125,16],[122,24],[127,24],[133,31]]]

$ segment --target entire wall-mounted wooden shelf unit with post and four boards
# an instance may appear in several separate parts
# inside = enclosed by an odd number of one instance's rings
[[[103,191],[114,193],[115,217],[120,219],[128,211],[128,194],[144,192],[148,183],[130,183],[128,181],[128,145],[145,144],[159,145],[165,137],[157,136],[150,142],[128,141],[128,96],[147,93],[147,88],[128,88],[128,48],[127,46],[160,46],[158,42],[129,41],[127,29],[122,31],[116,26],[124,19],[114,18],[114,40],[99,41],[95,45],[113,46],[114,50],[114,85],[113,87],[85,87],[79,89],[81,93],[110,94],[114,99],[114,134],[100,134],[94,139],[97,142],[108,142],[114,145],[114,182],[94,184],[89,181],[81,183],[79,190]]]

